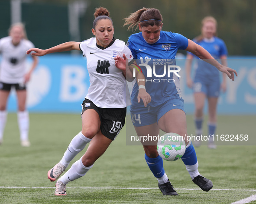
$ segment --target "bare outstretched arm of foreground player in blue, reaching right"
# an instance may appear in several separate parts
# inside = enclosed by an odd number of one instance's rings
[[[237,76],[236,70],[231,69],[227,66],[224,66],[224,65],[221,65],[220,63],[218,63],[218,61],[215,60],[214,57],[211,56],[211,54],[207,52],[207,50],[205,50],[200,45],[194,43],[193,41],[188,40],[188,47],[186,50],[193,53],[194,55],[198,56],[201,60],[204,60],[205,62],[210,63],[211,65],[215,66],[217,69],[220,70],[220,72],[226,73],[227,76],[230,79],[232,79],[232,81],[234,81],[235,75]]]

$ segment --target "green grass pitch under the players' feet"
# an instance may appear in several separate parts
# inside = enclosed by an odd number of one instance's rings
[[[124,127],[93,168],[81,179],[67,185],[67,196],[55,196],[55,182],[47,179],[47,172],[58,163],[71,139],[81,130],[79,113],[30,113],[29,148],[20,146],[16,114],[10,113],[0,145],[0,204],[236,202],[256,195],[255,121],[256,116],[218,116],[217,134],[247,134],[250,145],[227,142],[219,144],[216,150],[208,149],[206,145],[195,148],[199,172],[214,185],[209,192],[194,185],[181,160],[164,161],[165,172],[179,196],[163,196],[146,165],[142,146],[126,145]],[[188,134],[194,133],[193,116],[187,116],[187,123]],[[204,132],[207,132],[206,123]]]

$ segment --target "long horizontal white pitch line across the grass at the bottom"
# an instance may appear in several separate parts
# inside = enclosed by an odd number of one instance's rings
[[[0,186],[0,188],[55,188],[55,187],[29,187],[29,186]],[[70,189],[137,189],[137,190],[148,190],[148,189],[159,189],[159,188],[132,188],[132,187],[67,187]],[[175,188],[175,190],[201,190],[200,188]],[[256,191],[256,189],[211,189],[211,191]]]

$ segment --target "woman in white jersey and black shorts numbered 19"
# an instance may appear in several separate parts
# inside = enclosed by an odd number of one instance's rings
[[[94,162],[107,150],[124,126],[126,107],[130,105],[130,93],[126,75],[132,66],[133,56],[123,41],[113,38],[113,22],[105,8],[97,8],[94,13],[92,33],[95,38],[82,42],[66,42],[47,50],[30,49],[32,55],[81,50],[87,57],[90,87],[82,104],[82,130],[76,135],[65,151],[62,160],[48,172],[48,178],[55,181],[65,171],[71,160],[90,142],[87,151],[56,182],[55,195],[66,195],[66,185],[84,176]],[[122,57],[120,57],[122,56]],[[127,56],[127,57],[126,57]],[[117,60],[117,61],[116,61]],[[138,73],[138,72],[137,72]],[[149,98],[142,90],[142,100]],[[144,97],[145,96],[145,97]]]

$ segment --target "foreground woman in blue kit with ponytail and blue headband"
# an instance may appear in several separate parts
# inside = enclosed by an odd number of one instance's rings
[[[201,59],[207,59],[208,63],[226,73],[232,80],[234,73],[237,75],[237,72],[218,63],[203,47],[184,36],[162,31],[162,15],[158,9],[139,9],[125,19],[124,25],[129,25],[128,30],[139,26],[141,31],[131,35],[127,42],[146,77],[145,87],[135,84],[131,94],[130,113],[137,135],[159,135],[161,129],[164,132],[182,135],[186,141],[186,115],[180,95],[178,69],[176,72],[168,71],[169,65],[175,66],[177,50],[187,50]],[[151,96],[148,107],[137,101],[138,91],[143,88]],[[156,142],[151,145],[143,144],[146,162],[158,179],[162,194],[178,195],[165,174],[162,158],[157,153]],[[198,172],[198,160],[191,141],[186,141],[186,151],[181,159],[192,181],[202,190],[209,191],[213,187],[212,182]]]

